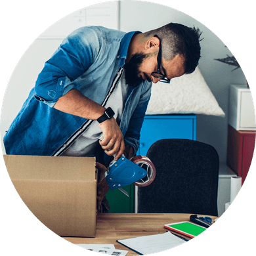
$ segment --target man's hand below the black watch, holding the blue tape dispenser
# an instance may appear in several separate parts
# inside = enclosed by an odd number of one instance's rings
[[[125,142],[116,119],[112,117],[100,123],[98,126],[102,129],[104,136],[104,139],[100,140],[100,146],[105,150],[108,156],[114,156],[114,154],[116,154],[115,160],[117,161],[121,158],[125,150]]]

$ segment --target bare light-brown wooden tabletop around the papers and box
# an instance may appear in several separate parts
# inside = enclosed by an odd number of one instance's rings
[[[202,215],[198,215],[200,217]],[[116,249],[129,251],[129,255],[139,255],[119,244],[116,240],[163,234],[164,224],[189,221],[190,214],[179,213],[100,213],[97,217],[95,238],[63,237],[72,244],[114,244]],[[209,216],[213,219],[217,217]]]

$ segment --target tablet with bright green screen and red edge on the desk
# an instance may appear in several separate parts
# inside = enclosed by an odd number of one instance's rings
[[[200,226],[198,224],[190,223],[188,221],[182,221],[181,223],[170,223],[165,224],[165,228],[169,230],[173,230],[175,232],[181,233],[184,236],[188,236],[190,238],[195,238],[199,234],[201,234],[207,228]]]

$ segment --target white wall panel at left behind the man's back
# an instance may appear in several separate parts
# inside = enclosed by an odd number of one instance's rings
[[[1,147],[3,154],[5,154],[5,148],[2,138],[5,131],[9,129],[12,120],[34,87],[37,75],[43,69],[45,62],[51,58],[62,40],[81,26],[106,26],[117,30],[119,26],[118,6],[116,1],[112,1],[91,5],[72,12],[47,28],[28,47],[12,72],[3,97],[1,108]]]

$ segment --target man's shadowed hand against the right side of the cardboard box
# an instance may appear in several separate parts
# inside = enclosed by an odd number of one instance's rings
[[[108,186],[106,179],[103,179],[104,173],[106,172],[106,167],[101,163],[96,162],[96,168],[99,171],[99,175],[98,175],[99,178],[98,178],[98,185],[97,185],[97,209],[98,211],[100,211],[102,200],[106,196],[106,193],[108,192],[110,187]]]

